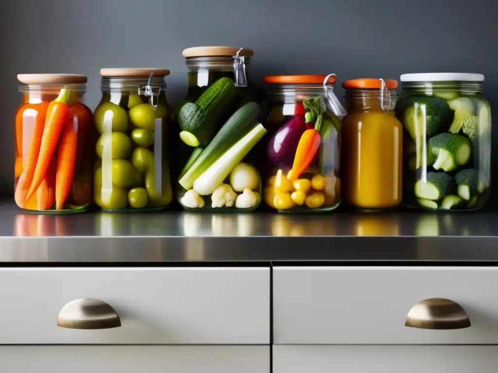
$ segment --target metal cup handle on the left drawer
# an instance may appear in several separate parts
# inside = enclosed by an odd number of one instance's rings
[[[75,299],[67,303],[57,316],[57,326],[69,329],[109,329],[121,326],[118,313],[99,299]]]

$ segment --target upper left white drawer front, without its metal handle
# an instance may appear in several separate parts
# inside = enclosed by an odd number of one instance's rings
[[[268,268],[1,269],[0,283],[0,344],[269,344]],[[121,327],[58,327],[78,298]]]

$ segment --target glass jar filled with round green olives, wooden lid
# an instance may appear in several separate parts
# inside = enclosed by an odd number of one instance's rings
[[[173,196],[164,82],[169,70],[102,69],[100,75],[95,202],[108,211],[163,209]]]

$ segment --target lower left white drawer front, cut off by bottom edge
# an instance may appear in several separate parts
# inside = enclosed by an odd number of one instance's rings
[[[269,346],[0,346],[5,373],[269,373]]]

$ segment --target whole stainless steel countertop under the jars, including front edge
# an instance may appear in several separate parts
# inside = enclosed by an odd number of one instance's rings
[[[498,214],[35,215],[0,201],[0,263],[498,261]]]

